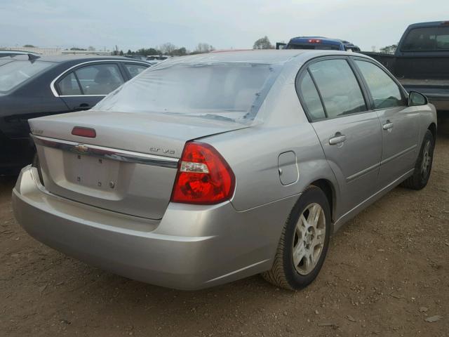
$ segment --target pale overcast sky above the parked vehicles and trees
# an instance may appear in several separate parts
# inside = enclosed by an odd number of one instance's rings
[[[449,0],[0,0],[0,46],[136,50],[252,48],[296,36],[345,39],[371,51],[414,22],[449,20]]]

